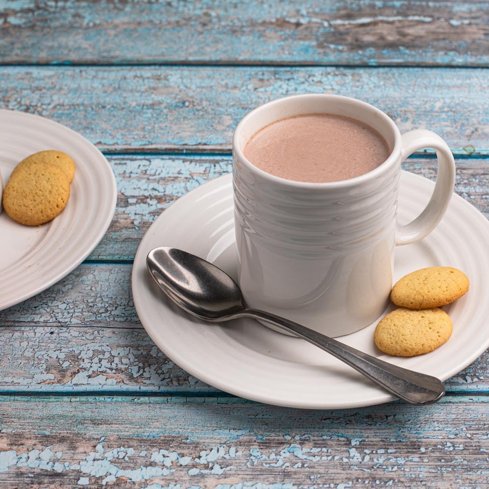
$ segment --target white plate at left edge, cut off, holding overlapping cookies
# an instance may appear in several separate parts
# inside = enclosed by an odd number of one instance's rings
[[[93,144],[44,117],[0,110],[3,185],[23,158],[50,149],[75,161],[70,197],[63,212],[42,226],[24,226],[0,214],[0,311],[47,289],[77,267],[102,239],[114,214],[114,174]]]

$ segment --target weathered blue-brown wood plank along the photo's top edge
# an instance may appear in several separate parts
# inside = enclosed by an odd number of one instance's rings
[[[488,65],[487,1],[11,1],[3,63]]]

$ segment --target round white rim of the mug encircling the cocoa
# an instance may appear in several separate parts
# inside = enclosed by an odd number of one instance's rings
[[[321,97],[324,99],[335,99],[338,101],[342,102],[348,102],[348,103],[355,103],[358,106],[362,107],[363,109],[369,108],[370,110],[374,110],[377,112],[377,114],[384,119],[388,125],[390,126],[392,132],[394,133],[394,147],[392,148],[392,151],[389,153],[389,156],[385,161],[383,161],[380,165],[378,165],[377,168],[374,168],[370,172],[364,173],[362,175],[359,175],[354,178],[349,178],[347,180],[338,180],[334,182],[303,182],[303,181],[298,181],[298,180],[289,180],[287,178],[282,178],[282,177],[277,177],[276,175],[272,175],[271,173],[267,173],[264,170],[258,168],[255,166],[251,161],[244,156],[244,152],[240,148],[240,145],[238,144],[238,135],[242,131],[242,128],[244,124],[246,123],[247,119],[251,117],[252,114],[254,114],[256,111],[263,110],[264,108],[268,106],[273,106],[276,104],[284,103],[284,101],[287,100],[293,100],[293,99],[298,99],[298,98],[311,98],[311,97]],[[281,119],[277,119],[279,121]],[[274,121],[274,122],[277,122]],[[265,126],[264,126],[265,127]],[[261,128],[263,129],[263,128]],[[261,130],[260,129],[260,130]],[[380,134],[382,137],[384,137],[383,134]],[[385,139],[385,137],[384,137]],[[303,188],[303,189],[319,189],[319,190],[324,190],[324,189],[333,189],[333,188],[342,188],[342,187],[350,187],[352,185],[357,185],[361,184],[365,181],[368,181],[372,178],[376,178],[379,174],[384,172],[386,169],[388,169],[390,166],[393,164],[397,163],[398,157],[400,156],[401,152],[401,134],[399,128],[396,126],[394,121],[385,113],[382,112],[380,109],[377,107],[368,104],[367,102],[363,102],[362,100],[358,100],[353,97],[346,97],[344,95],[334,95],[334,94],[329,94],[329,93],[304,93],[300,95],[289,95],[287,97],[281,97],[275,100],[270,100],[269,102],[266,102],[265,104],[259,105],[252,111],[248,112],[239,122],[239,124],[236,126],[236,129],[233,134],[233,156],[236,153],[237,157],[239,158],[240,162],[243,163],[248,169],[252,172],[257,173],[260,175],[262,178],[273,182],[273,183],[279,183],[282,185],[287,185],[289,187],[295,187],[295,188]]]

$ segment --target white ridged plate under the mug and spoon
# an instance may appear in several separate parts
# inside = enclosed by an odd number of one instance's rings
[[[399,221],[416,217],[434,183],[402,172]],[[394,280],[422,267],[464,270],[470,291],[444,309],[453,320],[451,338],[427,355],[400,358],[375,347],[376,323],[340,338],[370,355],[442,380],[460,372],[489,345],[489,222],[454,195],[436,230],[422,242],[396,249]],[[156,287],[146,255],[174,246],[216,263],[236,277],[231,175],[180,198],[149,228],[133,267],[133,297],[139,318],[156,345],[195,377],[244,398],[299,408],[336,409],[393,400],[354,369],[304,340],[276,333],[252,319],[211,324],[181,311]]]

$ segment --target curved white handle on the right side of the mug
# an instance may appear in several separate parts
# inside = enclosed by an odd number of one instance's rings
[[[416,129],[402,134],[401,139],[401,161],[423,148],[436,150],[438,175],[435,190],[422,213],[409,224],[398,226],[396,246],[420,241],[433,231],[445,214],[455,186],[455,161],[450,148],[438,134]]]

